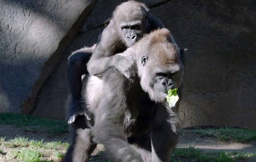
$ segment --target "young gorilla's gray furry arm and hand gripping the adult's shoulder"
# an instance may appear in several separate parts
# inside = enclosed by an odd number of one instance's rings
[[[130,68],[134,66],[134,60],[131,57],[115,55],[119,48],[126,48],[117,32],[115,24],[110,21],[109,25],[102,32],[99,43],[91,59],[87,64],[88,72],[93,76],[102,76],[110,67],[115,67],[129,78]]]

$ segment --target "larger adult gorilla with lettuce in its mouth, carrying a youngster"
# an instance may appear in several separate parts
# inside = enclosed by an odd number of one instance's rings
[[[64,161],[88,161],[96,143],[104,144],[114,161],[170,160],[178,117],[167,106],[166,92],[181,84],[179,48],[167,29],[159,29],[119,55],[134,58],[138,76],[126,78],[110,68],[102,79],[84,78],[82,96],[94,119],[79,116],[72,124],[72,144]]]

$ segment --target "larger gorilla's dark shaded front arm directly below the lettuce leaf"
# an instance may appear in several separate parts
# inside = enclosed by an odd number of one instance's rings
[[[170,161],[178,141],[178,123],[178,117],[173,111],[161,105],[157,106],[151,129],[152,161]]]

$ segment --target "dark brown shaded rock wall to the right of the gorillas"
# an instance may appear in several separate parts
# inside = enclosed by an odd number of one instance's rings
[[[151,10],[185,55],[183,126],[256,128],[256,1],[170,1]]]

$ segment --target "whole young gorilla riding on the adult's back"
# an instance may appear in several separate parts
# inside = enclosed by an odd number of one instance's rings
[[[80,109],[83,74],[89,72],[93,76],[101,77],[107,69],[115,67],[127,78],[135,75],[134,61],[130,57],[115,54],[134,45],[143,34],[164,27],[148,10],[147,6],[140,2],[128,1],[120,4],[113,12],[110,23],[99,36],[96,47],[79,49],[68,58],[67,77],[72,94],[72,104],[67,117],[69,124],[74,122],[79,114],[90,120],[86,110]]]

